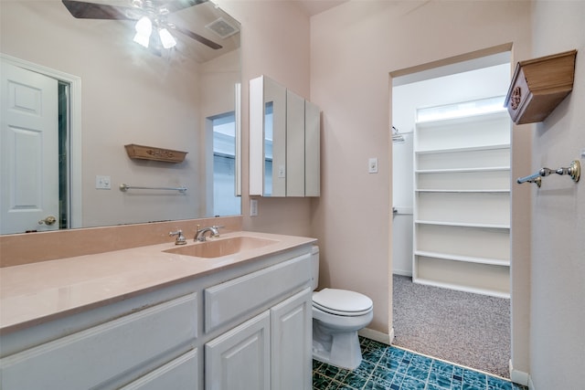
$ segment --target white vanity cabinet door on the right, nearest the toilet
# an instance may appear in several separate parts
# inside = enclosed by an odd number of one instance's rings
[[[272,390],[312,388],[312,292],[307,288],[271,308]]]

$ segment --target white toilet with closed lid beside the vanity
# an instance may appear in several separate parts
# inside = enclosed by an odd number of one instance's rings
[[[313,247],[313,290],[319,280],[319,247]],[[313,358],[355,369],[362,362],[357,331],[374,316],[374,305],[355,291],[323,289],[313,293]]]

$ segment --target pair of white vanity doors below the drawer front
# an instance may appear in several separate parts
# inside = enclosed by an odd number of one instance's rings
[[[307,288],[207,343],[206,390],[311,389],[311,293]]]

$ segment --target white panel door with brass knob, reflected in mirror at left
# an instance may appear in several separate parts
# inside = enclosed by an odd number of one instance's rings
[[[1,73],[0,232],[58,229],[58,81],[5,61]]]

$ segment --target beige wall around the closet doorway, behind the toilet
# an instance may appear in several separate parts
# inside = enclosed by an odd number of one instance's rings
[[[312,19],[311,100],[324,112],[323,192],[314,201],[312,230],[323,248],[322,282],[372,297],[370,327],[378,332],[392,324],[388,73],[506,43],[513,60],[529,58],[529,10],[522,1],[352,1]],[[529,135],[513,137],[516,177],[529,169]],[[378,157],[378,174],[367,173],[368,157]],[[513,196],[517,225],[528,214],[527,197]],[[528,236],[514,240],[513,267],[526,278]],[[516,326],[526,333],[523,303]],[[516,349],[515,366],[527,372],[527,351]]]

